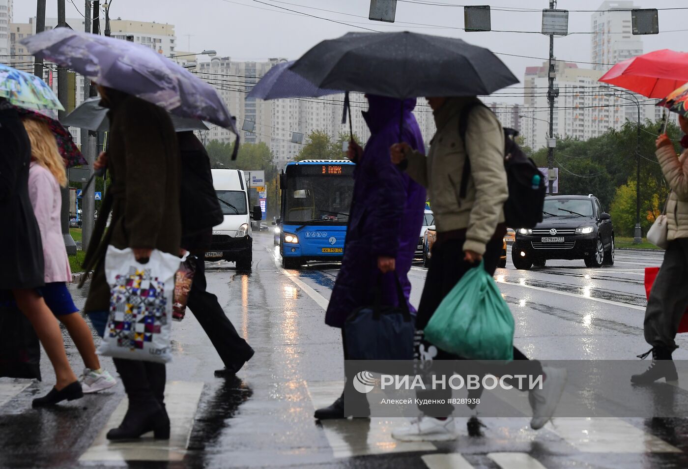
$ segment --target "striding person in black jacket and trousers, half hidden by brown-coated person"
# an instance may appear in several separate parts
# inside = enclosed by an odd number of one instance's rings
[[[230,377],[254,351],[228,320],[217,297],[206,291],[205,253],[210,247],[213,227],[222,222],[222,209],[213,189],[210,158],[203,144],[193,132],[178,132],[177,136],[182,158],[182,248],[196,256],[196,272],[186,306],[224,363],[224,369],[215,371],[215,375]]]

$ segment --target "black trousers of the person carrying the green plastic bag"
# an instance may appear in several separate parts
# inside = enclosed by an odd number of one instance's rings
[[[497,269],[497,262],[502,253],[502,237],[504,232],[497,229],[495,236],[488,242],[486,251],[483,255],[484,267],[490,275],[495,274]],[[438,243],[433,246],[432,257],[430,258],[430,267],[428,269],[427,277],[425,278],[425,285],[423,293],[420,298],[420,306],[418,307],[418,320],[416,320],[417,329],[424,329],[427,322],[432,317],[433,313],[440,306],[440,303],[445,296],[456,286],[469,269],[473,268],[472,264],[464,261],[463,244],[465,238],[455,236],[450,239],[441,240],[441,233],[438,236]],[[427,341],[422,342],[424,350],[427,351],[430,344]],[[432,357],[435,360],[460,360],[464,357],[453,355],[441,348],[437,348],[437,355]],[[542,373],[542,366],[535,360],[528,360],[518,348],[513,348],[513,355],[515,362],[502,366],[494,366],[490,369],[491,373],[501,375],[502,373],[509,374],[526,374],[539,375]],[[519,362],[521,360],[521,362]],[[517,382],[510,383],[513,386]],[[438,390],[419,390],[416,393],[418,399],[450,399],[451,388]],[[418,406],[420,410],[426,414],[434,417],[442,417],[451,415],[453,406],[451,404],[431,404]]]

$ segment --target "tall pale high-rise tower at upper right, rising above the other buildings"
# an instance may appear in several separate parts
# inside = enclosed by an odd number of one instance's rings
[[[643,41],[632,34],[632,1],[603,1],[592,14],[591,61],[595,70],[643,53]],[[611,64],[611,65],[609,65]]]

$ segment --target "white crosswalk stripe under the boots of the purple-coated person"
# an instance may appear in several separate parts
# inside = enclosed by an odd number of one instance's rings
[[[344,382],[307,382],[313,408],[329,406],[341,395]],[[323,432],[336,458],[383,455],[391,452],[434,451],[423,441],[404,443],[391,437],[391,430],[408,423],[404,417],[334,419],[322,421]]]

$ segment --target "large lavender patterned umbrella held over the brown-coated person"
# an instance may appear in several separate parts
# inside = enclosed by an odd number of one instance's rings
[[[21,43],[31,54],[76,70],[99,85],[133,94],[178,116],[212,122],[238,137],[215,88],[151,48],[69,28],[41,32]]]

